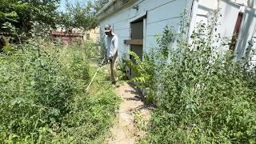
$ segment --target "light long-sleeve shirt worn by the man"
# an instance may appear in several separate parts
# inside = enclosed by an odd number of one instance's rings
[[[106,56],[114,57],[118,52],[118,36],[112,33],[112,36],[106,36]]]

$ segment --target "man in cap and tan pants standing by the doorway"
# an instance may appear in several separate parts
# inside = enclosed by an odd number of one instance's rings
[[[112,26],[105,26],[105,34],[106,34],[106,58],[109,64],[109,73],[112,83],[115,86],[118,85],[118,36],[113,33]]]

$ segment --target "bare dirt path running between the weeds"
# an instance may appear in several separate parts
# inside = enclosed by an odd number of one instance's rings
[[[116,88],[116,93],[122,98],[122,103],[118,110],[117,123],[111,130],[111,137],[107,143],[133,144],[137,138],[142,137],[143,131],[136,126],[136,115],[148,120],[150,118],[150,106],[143,101],[138,90],[127,83]]]

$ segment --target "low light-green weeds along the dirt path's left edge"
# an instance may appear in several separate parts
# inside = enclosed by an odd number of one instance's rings
[[[80,96],[73,102],[74,111],[66,117],[67,126],[72,129],[66,135],[72,135],[75,143],[102,143],[113,126],[119,103],[113,87],[106,82],[105,71],[100,71],[89,97]]]

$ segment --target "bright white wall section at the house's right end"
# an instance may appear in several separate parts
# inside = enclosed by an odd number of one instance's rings
[[[231,39],[234,34],[234,27],[238,18],[238,13],[242,12],[242,24],[235,48],[235,50],[238,51],[238,58],[241,58],[245,54],[248,42],[250,40],[254,40],[254,37],[256,36],[255,3],[255,0],[195,0],[190,34],[197,23],[207,23],[207,14],[211,10],[216,10],[219,7],[222,17],[218,18],[218,27],[215,34],[220,34],[222,38]],[[229,49],[229,46],[219,46],[219,43],[216,43],[216,46],[218,46],[220,50]],[[256,62],[256,56],[254,56],[252,60]]]

